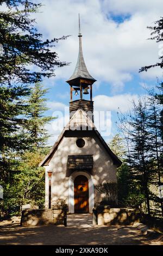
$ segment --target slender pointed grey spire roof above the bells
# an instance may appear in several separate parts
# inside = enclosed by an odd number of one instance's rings
[[[96,81],[95,78],[93,78],[89,74],[89,71],[87,71],[87,68],[84,62],[83,51],[82,51],[82,33],[80,30],[80,15],[79,15],[79,35],[78,36],[79,36],[79,54],[78,54],[76,68],[73,72],[73,75],[66,82],[70,82],[71,80],[74,80],[77,78],[86,78],[95,82]]]

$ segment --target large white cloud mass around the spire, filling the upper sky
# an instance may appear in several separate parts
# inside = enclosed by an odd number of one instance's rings
[[[146,27],[162,15],[162,0],[42,0],[42,4],[43,13],[36,15],[39,31],[48,38],[72,35],[56,46],[59,58],[71,62],[70,66],[56,70],[56,79],[69,78],[76,65],[78,13],[87,69],[97,80],[111,83],[113,90],[122,90],[141,66],[158,62],[158,45],[147,40],[150,32]],[[107,19],[111,13],[131,16],[117,24]],[[140,76],[151,79],[160,75],[159,69],[155,69]]]

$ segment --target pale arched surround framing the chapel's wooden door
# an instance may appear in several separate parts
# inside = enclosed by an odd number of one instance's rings
[[[89,212],[92,213],[94,207],[94,185],[93,178],[89,172],[73,172],[68,178],[68,211],[74,214],[74,179],[79,176],[84,175],[89,181]]]

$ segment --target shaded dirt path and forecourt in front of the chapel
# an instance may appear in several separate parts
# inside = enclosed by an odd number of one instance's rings
[[[68,215],[67,227],[1,223],[0,245],[161,245],[131,226],[92,227],[91,215]]]

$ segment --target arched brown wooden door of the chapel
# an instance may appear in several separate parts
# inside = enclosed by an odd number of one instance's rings
[[[89,181],[84,175],[74,179],[74,213],[89,213]]]

